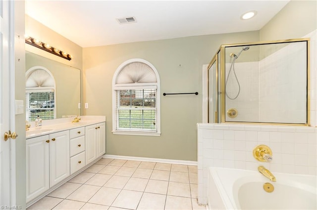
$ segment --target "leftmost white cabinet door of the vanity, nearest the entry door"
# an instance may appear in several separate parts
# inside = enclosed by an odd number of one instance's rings
[[[50,187],[49,135],[26,140],[26,202]]]

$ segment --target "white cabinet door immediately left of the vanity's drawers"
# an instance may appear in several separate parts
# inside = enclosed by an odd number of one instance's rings
[[[50,135],[50,187],[70,175],[69,131]]]

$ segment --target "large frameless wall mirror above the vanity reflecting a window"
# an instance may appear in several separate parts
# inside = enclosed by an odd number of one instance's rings
[[[26,52],[26,120],[81,115],[80,70]]]

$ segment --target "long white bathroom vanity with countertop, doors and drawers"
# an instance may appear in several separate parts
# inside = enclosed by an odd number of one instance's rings
[[[43,121],[26,131],[26,202],[52,192],[106,153],[106,117]]]

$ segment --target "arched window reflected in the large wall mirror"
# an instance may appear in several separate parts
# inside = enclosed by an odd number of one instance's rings
[[[25,73],[26,120],[56,118],[55,79],[45,67],[32,67]]]

